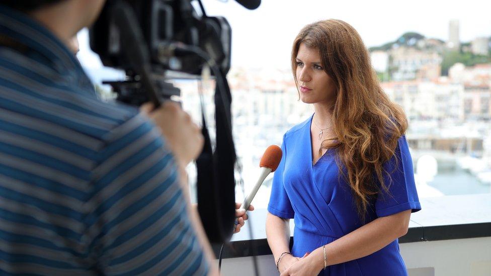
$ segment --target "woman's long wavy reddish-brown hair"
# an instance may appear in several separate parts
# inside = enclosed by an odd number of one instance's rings
[[[330,19],[300,31],[291,56],[297,87],[295,58],[301,43],[318,49],[324,71],[337,86],[332,116],[335,137],[322,141],[319,156],[323,149],[336,149],[341,175],[349,183],[358,214],[365,221],[372,200],[381,189],[388,192],[391,179],[384,181],[388,172],[383,164],[394,155],[407,119],[380,87],[369,52],[351,25]]]

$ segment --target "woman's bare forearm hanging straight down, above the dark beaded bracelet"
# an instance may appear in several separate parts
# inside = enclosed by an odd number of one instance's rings
[[[290,251],[290,220],[268,213],[266,237],[275,260],[278,260],[281,253]]]

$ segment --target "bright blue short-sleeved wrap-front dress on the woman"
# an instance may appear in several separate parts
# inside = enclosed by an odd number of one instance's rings
[[[312,252],[363,225],[351,188],[339,176],[335,150],[326,151],[312,165],[311,121],[312,117],[283,136],[283,157],[273,178],[268,205],[271,214],[294,219],[292,254],[296,257],[302,257],[307,251]],[[398,140],[394,157],[384,164],[392,177],[389,194],[379,193],[372,203],[373,208],[368,211],[367,222],[405,210],[421,210],[413,161],[404,136]],[[368,256],[328,266],[319,275],[395,276],[407,275],[407,272],[396,239]]]

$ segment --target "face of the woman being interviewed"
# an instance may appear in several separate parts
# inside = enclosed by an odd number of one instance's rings
[[[322,67],[319,51],[300,43],[297,53],[297,82],[300,100],[306,104],[332,105],[336,100],[336,84]]]

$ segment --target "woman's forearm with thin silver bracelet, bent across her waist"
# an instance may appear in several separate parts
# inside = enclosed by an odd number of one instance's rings
[[[327,264],[333,265],[370,255],[407,232],[411,210],[381,217],[325,245]],[[314,265],[324,267],[323,249],[308,256]]]

